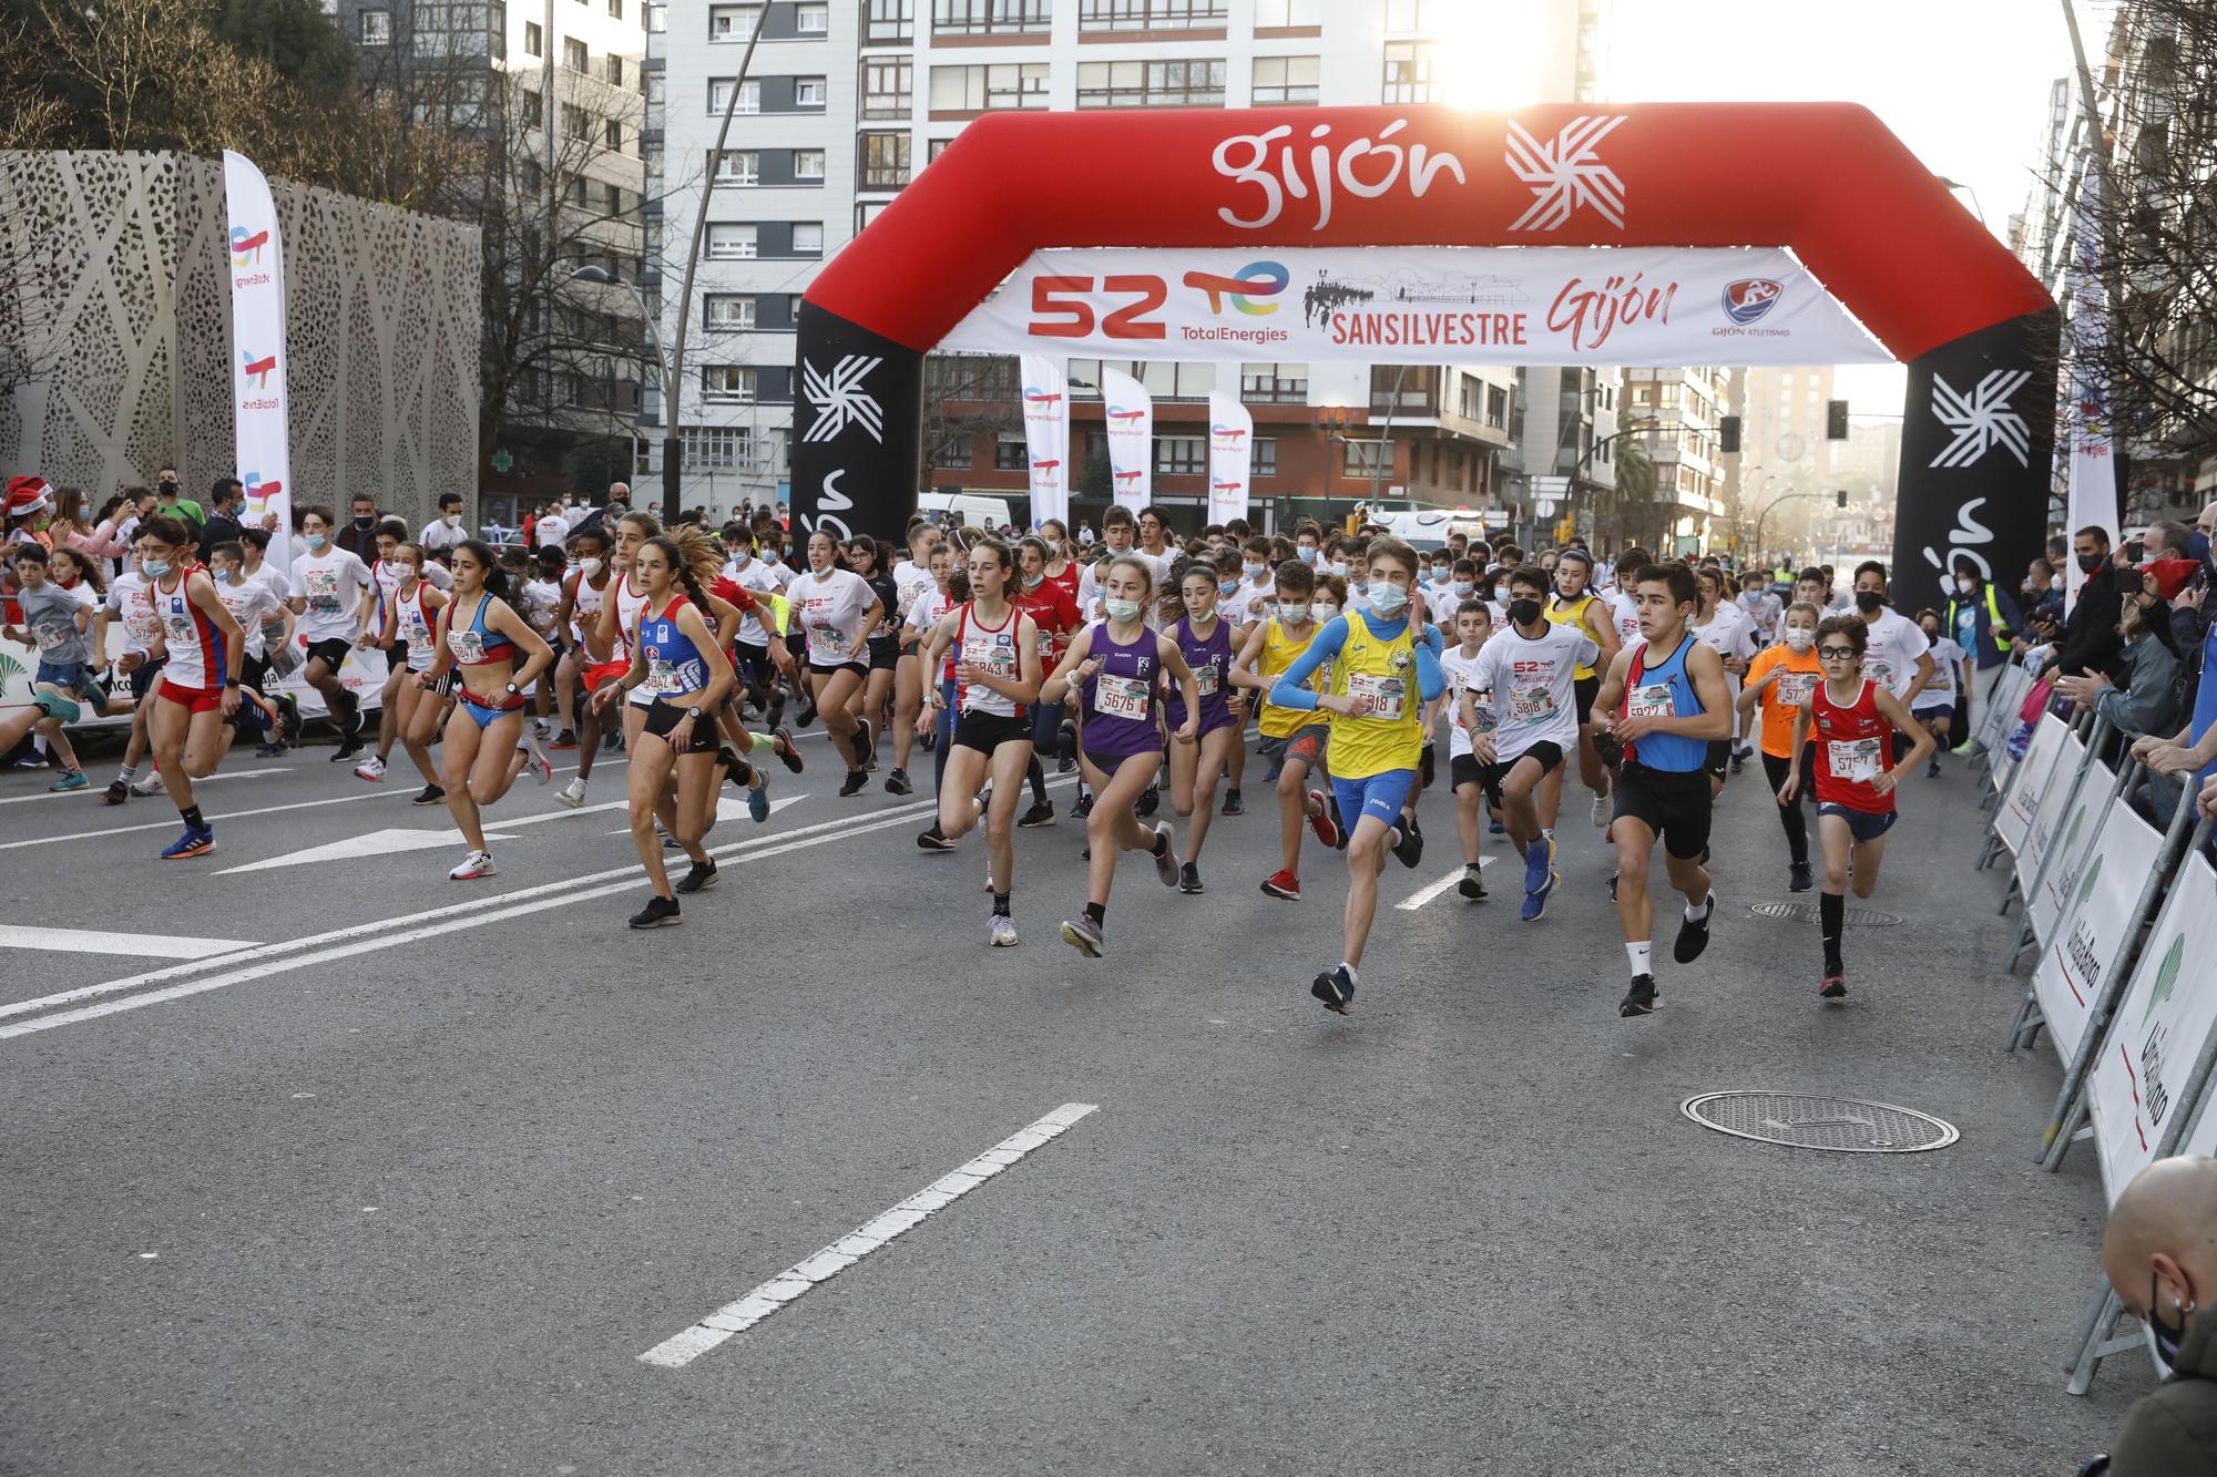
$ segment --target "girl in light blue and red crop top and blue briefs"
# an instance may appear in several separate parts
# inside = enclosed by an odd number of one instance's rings
[[[539,772],[541,785],[554,776],[539,741],[523,732],[523,692],[554,661],[554,650],[508,603],[508,574],[490,546],[463,539],[450,557],[454,597],[439,612],[430,668],[415,681],[421,692],[437,692],[450,670],[459,679],[459,701],[439,750],[439,785],[454,827],[470,843],[461,865],[446,876],[466,883],[494,874],[479,809],[508,794],[525,765]]]

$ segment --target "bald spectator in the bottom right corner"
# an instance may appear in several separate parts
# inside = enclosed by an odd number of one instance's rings
[[[2124,1417],[2108,1477],[2217,1473],[2217,1160],[2175,1155],[2133,1175],[2108,1213],[2102,1266],[2170,1366]]]

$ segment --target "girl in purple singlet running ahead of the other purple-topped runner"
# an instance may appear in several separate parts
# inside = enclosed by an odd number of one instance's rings
[[[1140,825],[1133,801],[1162,770],[1162,714],[1155,710],[1162,676],[1184,694],[1188,712],[1199,710],[1202,690],[1168,634],[1148,630],[1140,617],[1155,594],[1155,570],[1128,554],[1111,559],[1100,581],[1106,621],[1086,625],[1062,654],[1055,674],[1040,687],[1042,703],[1060,703],[1071,690],[1084,710],[1077,758],[1086,785],[1097,796],[1086,816],[1086,911],[1062,925],[1062,943],[1086,958],[1106,951],[1102,920],[1108,916],[1108,885],[1117,852],[1148,852],[1164,887],[1177,885],[1177,852],[1168,821],[1155,829]],[[1193,743],[1195,721],[1173,734],[1177,747]]]

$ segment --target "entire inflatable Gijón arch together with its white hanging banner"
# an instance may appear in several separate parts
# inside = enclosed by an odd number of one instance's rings
[[[1000,288],[1000,291],[995,291]],[[1898,603],[2042,548],[2060,317],[1867,109],[1177,109],[969,124],[818,273],[803,528],[898,537],[942,342],[1111,359],[1900,359]]]

